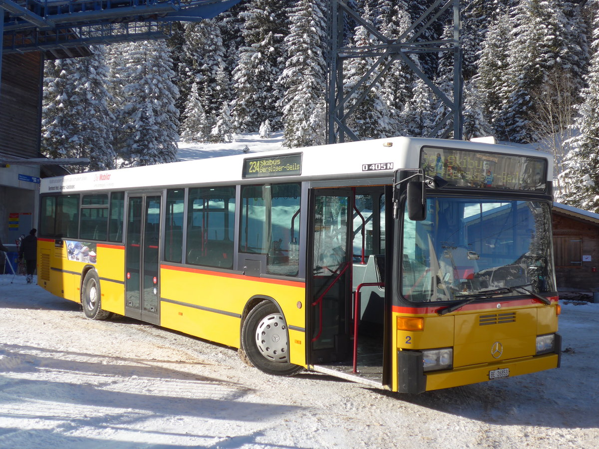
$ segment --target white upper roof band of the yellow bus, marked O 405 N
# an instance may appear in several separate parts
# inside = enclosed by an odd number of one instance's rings
[[[540,151],[452,139],[393,137],[44,178],[41,180],[40,193],[152,189],[192,184],[255,184],[268,180],[282,182],[381,178],[384,180],[382,182],[390,183],[395,170],[418,168],[420,148],[423,146],[541,157],[548,160],[547,180],[550,181],[553,177],[552,157]],[[301,154],[301,175],[242,177],[246,160],[293,154]]]

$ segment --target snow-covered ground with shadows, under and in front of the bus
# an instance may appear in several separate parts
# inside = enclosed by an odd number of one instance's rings
[[[0,448],[599,447],[599,304],[564,304],[562,368],[399,395],[277,378],[237,351],[90,321],[0,276]]]

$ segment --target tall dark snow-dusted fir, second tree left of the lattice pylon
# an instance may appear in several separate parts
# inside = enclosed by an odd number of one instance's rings
[[[284,0],[250,0],[240,14],[244,45],[233,70],[232,106],[238,131],[256,132],[267,119],[273,126],[280,123],[277,105],[283,92],[277,80],[288,34],[286,5]]]

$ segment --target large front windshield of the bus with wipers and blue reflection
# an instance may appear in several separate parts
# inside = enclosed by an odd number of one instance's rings
[[[541,295],[555,291],[547,204],[428,198],[426,207],[422,222],[410,220],[407,211],[404,214],[400,269],[407,300],[521,294],[509,287]]]

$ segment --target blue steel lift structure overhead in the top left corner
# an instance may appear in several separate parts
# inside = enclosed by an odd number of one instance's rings
[[[0,0],[0,75],[3,54],[42,51],[47,58],[56,59],[81,56],[94,44],[165,38],[173,20],[208,19],[239,2]]]

